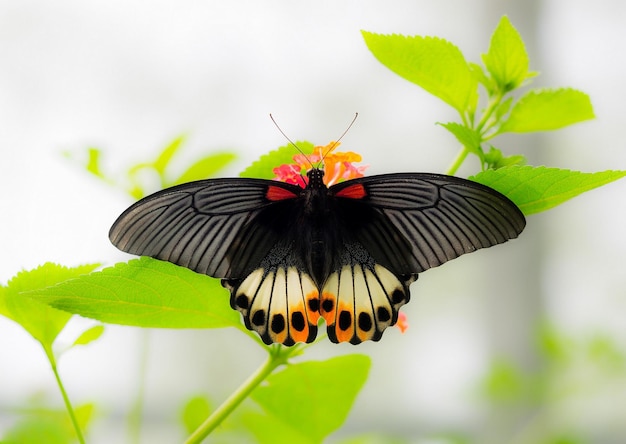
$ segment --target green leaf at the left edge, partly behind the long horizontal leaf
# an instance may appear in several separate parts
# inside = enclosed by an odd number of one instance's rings
[[[13,277],[0,292],[0,314],[20,324],[44,348],[50,350],[52,343],[63,330],[71,315],[55,310],[24,296],[24,293],[37,291],[67,279],[89,273],[98,264],[74,268],[46,263],[30,271],[21,271]]]

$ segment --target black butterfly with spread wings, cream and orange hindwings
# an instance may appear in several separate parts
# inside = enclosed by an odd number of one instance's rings
[[[378,341],[429,268],[516,238],[521,211],[484,185],[429,173],[331,187],[208,179],[148,196],[109,237],[120,250],[222,279],[230,304],[267,344]]]

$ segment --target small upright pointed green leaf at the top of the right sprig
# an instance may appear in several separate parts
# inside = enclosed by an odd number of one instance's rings
[[[524,41],[507,16],[500,19],[491,36],[489,50],[482,58],[501,93],[521,86],[534,75],[528,72],[528,54]]]

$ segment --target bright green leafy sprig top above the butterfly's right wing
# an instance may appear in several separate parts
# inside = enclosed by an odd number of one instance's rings
[[[594,117],[589,97],[572,88],[535,89],[516,99],[513,93],[536,73],[529,71],[524,42],[506,16],[483,54],[484,66],[468,63],[458,47],[438,38],[365,31],[363,37],[386,67],[459,113],[461,122],[442,124],[463,146],[448,174],[454,174],[469,153],[479,158],[483,169],[523,165],[522,156],[505,156],[493,147],[487,150],[485,143],[507,132],[554,130]],[[480,112],[479,85],[486,93],[486,107]]]

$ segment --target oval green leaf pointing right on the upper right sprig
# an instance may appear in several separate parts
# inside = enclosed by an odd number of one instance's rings
[[[513,106],[498,132],[548,131],[593,119],[589,96],[571,88],[532,90]]]

